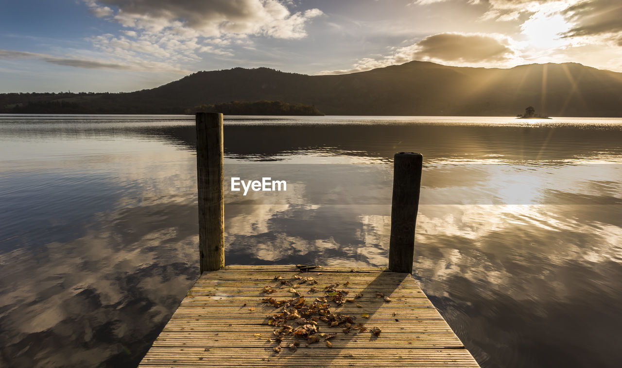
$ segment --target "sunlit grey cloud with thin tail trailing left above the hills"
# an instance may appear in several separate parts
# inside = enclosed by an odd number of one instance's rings
[[[434,61],[458,66],[517,65],[522,61],[511,38],[498,34],[442,33],[425,37],[413,45],[396,48],[383,58],[358,60],[349,70],[320,71],[345,74],[383,68],[412,60]]]

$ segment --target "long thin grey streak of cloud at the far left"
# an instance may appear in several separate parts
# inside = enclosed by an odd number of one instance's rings
[[[115,70],[131,70],[131,71],[152,71],[152,72],[172,72],[186,74],[189,71],[170,66],[165,63],[155,63],[151,61],[135,60],[134,63],[124,63],[123,61],[110,60],[92,60],[80,58],[66,58],[44,53],[24,52],[16,50],[0,50],[0,60],[12,59],[33,59],[42,60],[53,65],[72,66],[74,68],[85,69],[115,69]]]

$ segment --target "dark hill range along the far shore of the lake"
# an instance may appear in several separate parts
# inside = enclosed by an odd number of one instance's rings
[[[531,105],[552,117],[622,117],[622,73],[577,63],[486,69],[427,61],[327,76],[233,68],[129,93],[2,94],[0,110],[56,101],[71,112],[182,114],[197,105],[261,100],[314,105],[328,115],[516,116]]]

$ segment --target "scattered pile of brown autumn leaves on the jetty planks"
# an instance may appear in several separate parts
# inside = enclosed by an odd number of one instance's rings
[[[358,294],[353,299],[346,299],[346,295],[349,294],[348,290],[338,290],[339,284],[330,284],[324,288],[322,297],[310,300],[312,297],[305,298],[295,289],[305,283],[315,285],[318,282],[313,277],[300,277],[299,275],[294,275],[294,279],[297,279],[297,284],[284,280],[281,276],[274,277],[274,280],[279,280],[282,285],[290,286],[291,288],[288,291],[297,297],[287,300],[276,300],[270,297],[262,299],[264,303],[269,303],[272,307],[279,309],[268,317],[268,325],[275,327],[272,331],[274,338],[269,339],[271,342],[277,342],[277,346],[273,348],[275,352],[281,352],[282,343],[286,338],[288,340],[293,338],[289,345],[285,343],[290,351],[296,351],[300,346],[300,341],[304,341],[305,346],[313,343],[324,343],[328,348],[332,348],[332,343],[329,340],[337,336],[337,333],[324,333],[321,331],[322,325],[326,325],[328,328],[341,328],[341,332],[344,334],[369,331],[374,336],[379,336],[381,333],[378,327],[368,329],[363,323],[355,323],[355,316],[333,313],[330,308],[330,302],[337,305],[342,305],[345,302],[353,303],[355,299],[363,297],[363,294]],[[349,282],[346,282],[344,286],[348,284]],[[311,287],[309,292],[313,293],[318,290],[316,287]],[[264,287],[266,294],[272,294],[275,291],[276,289],[272,287]],[[360,305],[357,306],[360,307]],[[365,314],[367,313],[363,313],[363,316]]]

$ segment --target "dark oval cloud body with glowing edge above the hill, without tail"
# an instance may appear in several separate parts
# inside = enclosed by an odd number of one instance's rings
[[[414,60],[435,59],[478,63],[506,61],[514,55],[507,40],[483,34],[443,33],[416,43]]]

